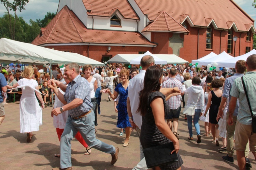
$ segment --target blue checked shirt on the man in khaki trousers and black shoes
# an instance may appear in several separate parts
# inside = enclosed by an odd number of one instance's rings
[[[231,95],[230,95],[230,91],[231,91],[231,88],[232,88],[232,85],[234,83],[234,80],[239,78],[239,77],[242,77],[244,74],[239,74],[239,73],[236,73],[234,74],[233,76],[227,78],[225,80],[225,85],[224,85],[224,90],[223,90],[223,94],[222,96],[225,97],[225,98],[228,98],[228,101],[230,102],[231,100]],[[237,99],[237,105],[236,105],[236,108],[234,110],[234,114],[233,116],[237,116],[238,115],[238,109],[239,109],[239,99]],[[228,112],[228,111],[227,111]]]

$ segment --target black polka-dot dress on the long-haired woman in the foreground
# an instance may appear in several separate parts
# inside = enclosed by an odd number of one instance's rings
[[[155,119],[153,116],[152,108],[150,107],[151,101],[155,98],[160,96],[163,99],[164,102],[164,108],[165,108],[165,117],[170,112],[170,107],[165,101],[165,96],[159,92],[151,92],[148,96],[147,103],[148,103],[148,109],[147,113],[144,117],[142,117],[142,126],[141,126],[141,135],[140,135],[140,141],[143,148],[150,148],[157,145],[163,145],[166,143],[171,142],[165,135],[163,135],[160,130],[157,128],[155,124]],[[163,170],[176,170],[181,167],[183,164],[183,160],[180,156],[180,154],[177,154],[177,157],[179,159],[178,162],[174,162],[171,164],[160,166]]]

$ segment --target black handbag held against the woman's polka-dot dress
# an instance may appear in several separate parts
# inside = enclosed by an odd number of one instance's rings
[[[171,154],[174,150],[173,142],[164,145],[158,145],[150,148],[144,148],[143,153],[145,156],[147,168],[158,167],[161,165],[170,164],[178,161],[176,152]]]

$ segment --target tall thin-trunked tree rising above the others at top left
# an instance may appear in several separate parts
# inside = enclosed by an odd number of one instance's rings
[[[9,29],[11,33],[11,39],[15,40],[15,25],[18,19],[16,11],[18,10],[19,12],[21,12],[22,10],[25,10],[24,6],[28,3],[29,0],[12,0],[12,2],[10,2],[9,0],[0,1],[6,8],[9,16]],[[14,12],[14,22],[12,22],[10,11]]]

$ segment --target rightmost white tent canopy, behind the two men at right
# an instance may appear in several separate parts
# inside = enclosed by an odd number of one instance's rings
[[[230,58],[230,59],[225,60],[225,61],[217,62],[218,63],[218,67],[234,68],[236,66],[236,62],[238,60],[246,61],[247,57],[252,55],[252,54],[256,54],[256,50],[255,49],[253,49],[252,51],[250,51],[250,52],[248,52],[246,54],[243,54],[243,55],[240,55],[240,56],[237,56],[237,57],[233,57],[233,58]]]

